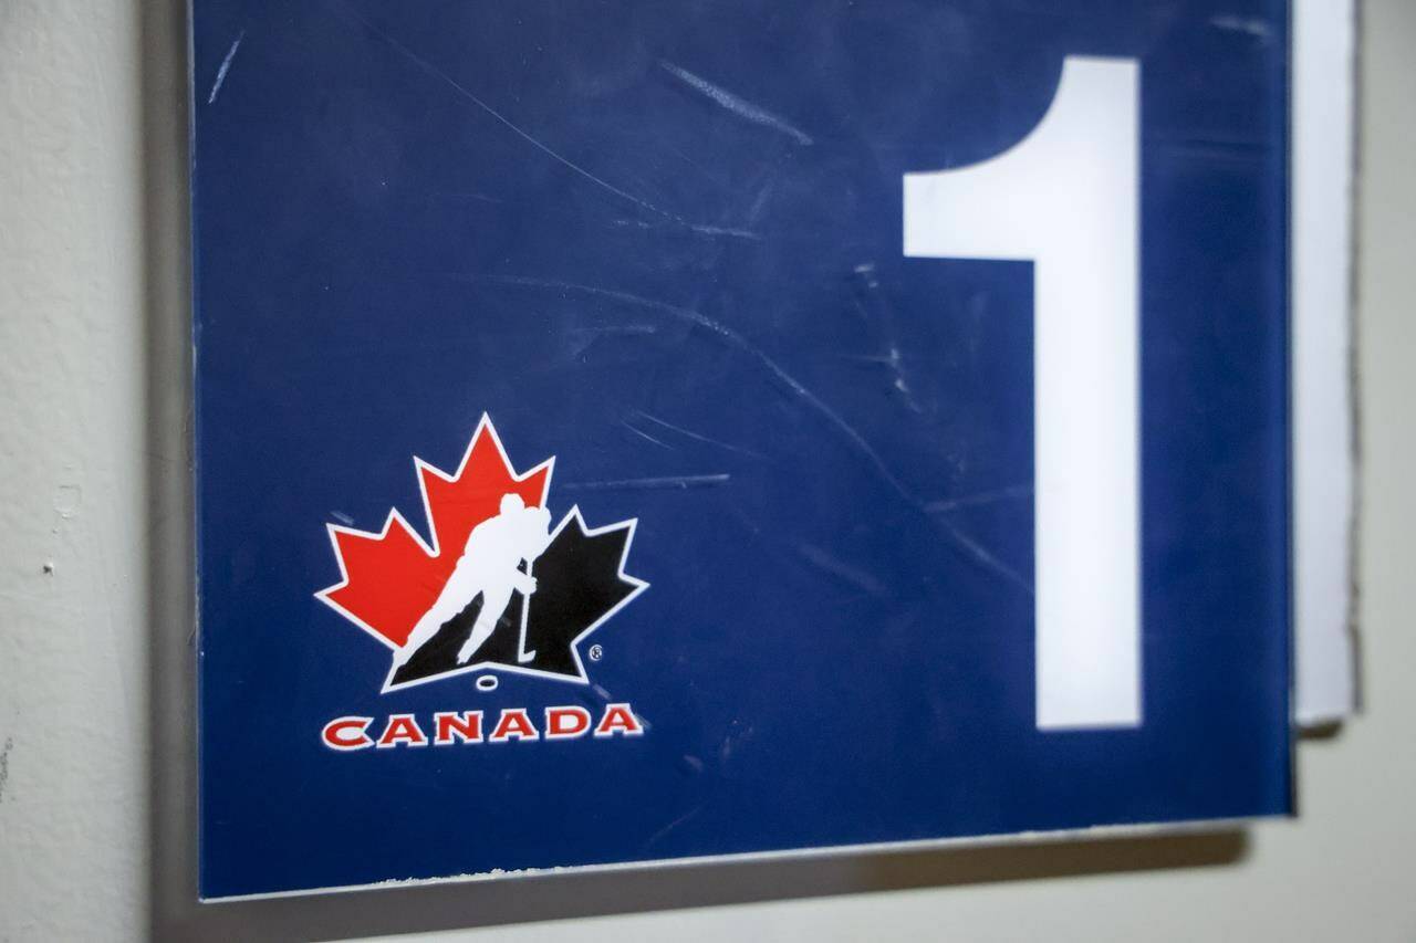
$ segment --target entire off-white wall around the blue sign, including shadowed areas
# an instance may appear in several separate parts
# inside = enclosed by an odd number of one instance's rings
[[[0,0],[0,940],[1416,939],[1410,0],[1369,0],[1362,30],[1366,714],[1303,743],[1300,820],[208,908],[191,903],[180,23],[173,0]]]

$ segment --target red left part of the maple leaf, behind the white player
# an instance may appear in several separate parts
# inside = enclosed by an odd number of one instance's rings
[[[520,494],[527,507],[545,507],[554,463],[547,459],[518,476],[491,419],[483,415],[455,474],[413,457],[432,542],[396,508],[378,534],[330,524],[341,579],[316,598],[384,644],[401,647],[442,592],[472,528],[497,514],[504,494]]]

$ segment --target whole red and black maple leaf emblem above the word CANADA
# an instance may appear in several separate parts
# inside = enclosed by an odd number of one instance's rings
[[[589,681],[581,643],[649,585],[624,573],[637,521],[554,527],[555,459],[517,474],[487,416],[457,471],[413,459],[429,535],[329,525],[338,583],[316,596],[392,651],[384,691],[469,671]]]

